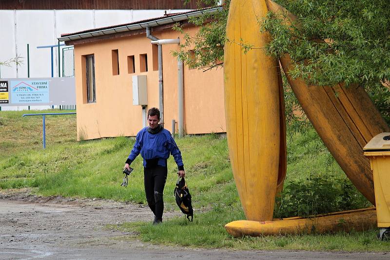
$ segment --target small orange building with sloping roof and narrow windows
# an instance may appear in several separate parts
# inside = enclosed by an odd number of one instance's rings
[[[146,124],[145,111],[160,107],[161,97],[166,129],[172,130],[172,120],[176,120],[176,132],[180,125],[188,134],[225,132],[223,70],[203,72],[184,66],[180,76],[178,60],[172,55],[172,51],[179,50],[178,44],[160,41],[163,79],[163,95],[160,95],[159,46],[151,43],[151,39],[157,38],[180,38],[183,42],[183,35],[172,30],[177,22],[185,25],[185,32],[195,35],[198,28],[187,22],[188,17],[217,9],[200,9],[61,35],[60,41],[75,48],[78,139],[135,136]],[[142,96],[145,76],[147,105],[141,106],[145,101],[134,101],[137,90],[134,92],[133,89],[138,83]],[[182,95],[180,85],[178,87],[180,77],[184,78]],[[183,97],[182,106],[179,105],[180,96]],[[179,118],[180,109],[183,122]]]

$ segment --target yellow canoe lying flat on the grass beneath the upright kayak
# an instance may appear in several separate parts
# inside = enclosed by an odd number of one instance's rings
[[[375,207],[334,212],[311,218],[288,218],[273,221],[239,220],[225,225],[232,236],[269,236],[288,234],[320,234],[351,230],[362,231],[376,227]]]

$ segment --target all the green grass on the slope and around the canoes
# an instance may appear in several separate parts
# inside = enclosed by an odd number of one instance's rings
[[[41,149],[41,117],[21,118],[23,112],[0,112],[0,188],[36,187],[49,195],[106,198],[145,202],[141,158],[127,188],[120,187],[121,168],[134,143],[133,138],[109,138],[76,142],[75,116],[50,116],[47,149]],[[66,126],[66,127],[64,127]],[[286,182],[313,173],[343,174],[328,160],[329,152],[311,133],[289,143]],[[244,219],[230,168],[226,139],[205,135],[177,140],[183,154],[187,180],[195,207],[194,223],[184,217],[150,223],[125,223],[118,228],[136,229],[140,239],[202,247],[256,249],[307,249],[388,251],[388,243],[375,239],[376,231],[322,236],[231,238],[223,225]],[[304,144],[304,146],[298,146]],[[170,158],[165,187],[166,207],[177,210],[171,196],[176,181],[175,163]],[[185,238],[185,239],[183,239]]]

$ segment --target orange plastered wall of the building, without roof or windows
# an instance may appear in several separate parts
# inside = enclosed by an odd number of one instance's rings
[[[196,28],[188,28],[192,34]],[[158,38],[181,37],[166,29]],[[118,49],[119,75],[113,75],[112,50]],[[164,121],[171,130],[178,120],[177,59],[171,52],[177,45],[163,45]],[[140,73],[139,54],[148,56],[148,72]],[[158,71],[153,64],[150,39],[145,34],[75,45],[78,138],[94,139],[119,135],[135,136],[142,128],[142,108],[133,106],[132,75],[147,75],[148,109],[158,107]],[[96,103],[86,103],[85,59],[95,56]],[[136,73],[128,74],[127,56],[135,56]],[[156,57],[156,56],[155,56]],[[189,134],[224,132],[223,71],[202,72],[184,68],[184,124]],[[177,129],[177,126],[176,126]],[[177,130],[176,130],[177,131]]]

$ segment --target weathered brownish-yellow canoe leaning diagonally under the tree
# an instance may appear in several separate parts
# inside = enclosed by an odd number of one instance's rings
[[[296,18],[285,8],[267,0],[270,11],[287,15],[285,22]],[[302,79],[292,79],[292,60],[280,57],[283,71],[303,110],[334,159],[354,186],[375,204],[370,161],[363,147],[377,134],[389,132],[389,126],[361,86],[346,88],[342,83],[333,87],[308,86]],[[334,92],[338,93],[338,97]]]

